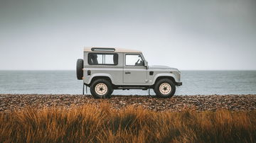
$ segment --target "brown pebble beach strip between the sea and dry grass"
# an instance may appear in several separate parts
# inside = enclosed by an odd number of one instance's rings
[[[256,95],[211,95],[211,96],[174,96],[172,98],[156,98],[154,96],[112,96],[110,99],[94,99],[82,95],[41,95],[41,94],[0,94],[0,112],[21,110],[30,107],[70,108],[85,104],[107,102],[110,108],[119,110],[128,105],[142,106],[155,111],[193,110],[255,110]]]

